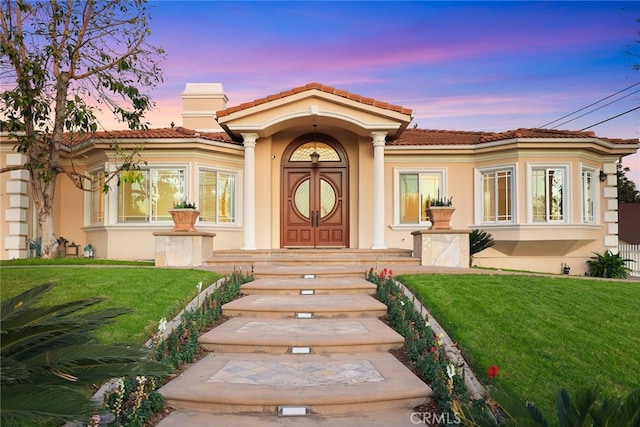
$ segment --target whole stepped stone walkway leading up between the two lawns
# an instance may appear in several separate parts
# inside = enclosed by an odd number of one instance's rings
[[[415,425],[431,389],[388,352],[403,339],[375,285],[300,269],[256,271],[223,307],[234,317],[200,338],[211,353],[160,389],[177,410],[159,426]]]

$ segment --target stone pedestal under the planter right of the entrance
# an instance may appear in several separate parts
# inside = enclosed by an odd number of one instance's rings
[[[413,236],[413,256],[420,265],[469,267],[470,230],[419,230]]]

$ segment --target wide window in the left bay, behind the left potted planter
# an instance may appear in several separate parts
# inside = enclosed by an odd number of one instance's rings
[[[120,172],[118,222],[171,220],[169,209],[185,200],[185,186],[182,168]]]

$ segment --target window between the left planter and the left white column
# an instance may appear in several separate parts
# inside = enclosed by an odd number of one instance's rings
[[[236,174],[200,170],[198,187],[200,221],[236,222]]]

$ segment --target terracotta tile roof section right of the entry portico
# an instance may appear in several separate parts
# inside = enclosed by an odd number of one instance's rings
[[[580,132],[555,129],[517,129],[506,132],[473,132],[434,129],[407,129],[396,140],[387,145],[474,145],[484,142],[504,141],[516,138],[596,138],[593,132]],[[599,138],[613,144],[637,144],[637,139]]]

